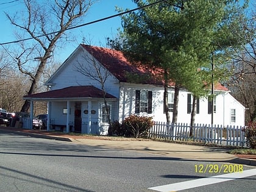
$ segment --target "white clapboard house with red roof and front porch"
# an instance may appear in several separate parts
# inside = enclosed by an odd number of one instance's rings
[[[108,119],[99,73],[105,77],[105,99],[112,121],[121,122],[130,114],[166,121],[163,82],[159,73],[131,65],[119,51],[84,44],[80,44],[46,82],[49,91],[27,95],[24,99],[31,101],[32,111],[33,101],[48,102],[48,130],[59,127],[66,132],[105,135]],[[220,84],[216,84],[214,93],[213,124],[243,126],[243,105]],[[168,105],[171,118],[173,98],[174,88],[170,87]],[[180,90],[178,123],[190,123],[192,101],[191,93]],[[211,117],[211,102],[207,98],[199,99],[195,123],[211,124]]]

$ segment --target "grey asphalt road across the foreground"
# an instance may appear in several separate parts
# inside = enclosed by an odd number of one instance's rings
[[[224,169],[211,173],[211,165],[241,169],[0,131],[0,191],[256,191],[255,167],[243,166],[235,179]]]

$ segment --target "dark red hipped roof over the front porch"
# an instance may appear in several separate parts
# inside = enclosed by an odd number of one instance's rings
[[[29,94],[23,97],[28,100],[49,100],[49,99],[81,99],[81,98],[103,98],[104,92],[94,86],[73,86],[59,90],[46,91],[42,93]],[[117,99],[112,94],[105,95],[107,99]]]

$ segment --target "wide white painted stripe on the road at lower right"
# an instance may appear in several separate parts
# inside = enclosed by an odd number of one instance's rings
[[[172,183],[169,185],[162,185],[157,187],[151,187],[149,190],[169,192],[169,191],[180,191],[187,190],[190,188],[201,187],[204,185],[211,185],[215,183],[226,182],[228,180],[240,179],[243,177],[250,177],[256,175],[256,168],[249,169],[243,172],[232,172],[229,174],[223,174],[219,176],[206,177],[202,179],[188,180],[185,182]]]

